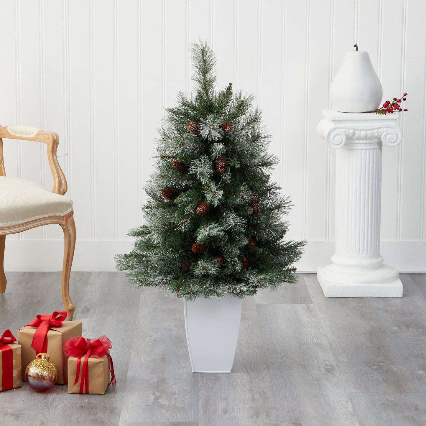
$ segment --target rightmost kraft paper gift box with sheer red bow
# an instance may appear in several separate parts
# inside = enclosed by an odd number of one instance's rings
[[[74,337],[65,343],[63,351],[68,357],[68,393],[104,394],[107,387],[115,383],[109,348],[112,345],[107,336],[99,339]]]

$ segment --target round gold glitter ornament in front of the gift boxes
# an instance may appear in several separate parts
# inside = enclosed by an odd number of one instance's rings
[[[37,392],[48,391],[56,382],[58,370],[49,354],[38,354],[35,360],[28,364],[25,370],[25,380],[31,389]]]

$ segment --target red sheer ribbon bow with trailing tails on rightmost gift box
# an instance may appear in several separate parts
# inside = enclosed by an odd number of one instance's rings
[[[77,371],[75,373],[75,382],[78,383],[80,377],[80,365],[81,358],[84,356],[83,367],[81,368],[81,381],[80,381],[80,390],[79,394],[83,393],[83,388],[86,389],[86,394],[89,393],[89,357],[101,358],[104,355],[108,358],[109,371],[111,372],[111,381],[108,383],[108,386],[111,383],[115,383],[115,374],[114,374],[114,364],[112,363],[111,355],[108,351],[112,348],[111,340],[107,336],[101,336],[99,339],[85,339],[84,337],[71,337],[63,345],[63,353],[66,356],[66,361],[68,357],[77,358]],[[64,368],[65,368],[64,363]],[[64,374],[65,377],[65,374]]]

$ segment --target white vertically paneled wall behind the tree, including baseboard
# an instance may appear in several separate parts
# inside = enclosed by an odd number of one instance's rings
[[[382,254],[426,271],[424,0],[8,0],[0,3],[0,123],[59,133],[75,205],[74,270],[110,270],[142,221],[164,107],[192,87],[188,45],[214,48],[219,86],[254,92],[290,195],[299,270],[333,253],[335,153],[317,136],[345,52],[367,50],[385,98],[408,92],[403,143],[383,149]],[[5,142],[6,173],[50,187],[43,147]],[[9,236],[6,269],[58,270],[59,227]]]

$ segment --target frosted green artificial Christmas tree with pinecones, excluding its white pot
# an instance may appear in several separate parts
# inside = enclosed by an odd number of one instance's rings
[[[139,287],[188,300],[294,282],[304,242],[283,241],[290,202],[270,179],[278,160],[267,153],[261,112],[231,84],[216,92],[206,44],[194,44],[192,55],[195,95],[179,93],[167,109],[145,224],[130,231],[135,248],[117,256],[118,269]]]

